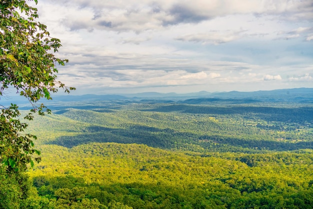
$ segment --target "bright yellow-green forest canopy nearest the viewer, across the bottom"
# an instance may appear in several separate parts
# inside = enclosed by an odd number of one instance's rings
[[[41,198],[59,203],[66,190],[62,199],[96,198],[108,208],[313,206],[311,150],[203,155],[117,143],[41,149],[43,160],[29,174]],[[74,190],[81,193],[70,197]]]

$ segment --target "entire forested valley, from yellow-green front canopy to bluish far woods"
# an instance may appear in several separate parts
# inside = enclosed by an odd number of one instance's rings
[[[27,129],[42,161],[20,208],[313,207],[310,104],[51,109]]]

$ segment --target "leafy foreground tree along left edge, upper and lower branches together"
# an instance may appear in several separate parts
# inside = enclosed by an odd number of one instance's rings
[[[37,0],[34,0],[37,4]],[[56,58],[52,53],[61,46],[60,40],[49,37],[46,26],[35,19],[37,9],[23,0],[1,0],[0,3],[0,99],[7,88],[15,88],[19,95],[26,97],[32,113],[44,114],[45,106],[37,104],[40,98],[51,99],[50,93],[67,88],[56,80],[56,65],[68,62]],[[27,164],[33,165],[31,155],[35,136],[22,134],[27,124],[21,123],[18,107],[0,105],[0,162],[8,174],[23,171]],[[47,110],[49,112],[49,110]],[[39,161],[39,157],[34,158]]]

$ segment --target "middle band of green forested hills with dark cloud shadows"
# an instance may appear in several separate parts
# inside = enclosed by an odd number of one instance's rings
[[[30,124],[39,143],[146,144],[189,151],[295,150],[313,147],[313,107],[146,104],[100,111],[65,109]]]

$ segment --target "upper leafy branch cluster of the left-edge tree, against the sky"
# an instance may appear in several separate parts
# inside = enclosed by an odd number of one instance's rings
[[[36,2],[36,1],[35,1]],[[21,16],[23,14],[23,16]],[[26,18],[24,18],[26,16]],[[31,102],[50,99],[56,92],[56,64],[67,60],[54,57],[60,40],[49,37],[46,26],[35,21],[37,9],[25,1],[2,1],[0,7],[0,96],[9,86]],[[66,92],[69,89],[65,88]]]

